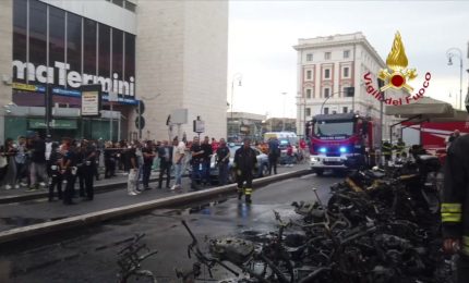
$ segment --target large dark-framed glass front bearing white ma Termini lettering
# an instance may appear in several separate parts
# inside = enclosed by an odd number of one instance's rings
[[[13,102],[44,107],[47,93],[80,107],[86,84],[100,84],[105,101],[113,90],[135,106],[135,35],[38,0],[13,1]]]

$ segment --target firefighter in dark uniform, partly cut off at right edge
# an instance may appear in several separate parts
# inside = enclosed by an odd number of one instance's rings
[[[469,111],[469,96],[466,108]],[[457,282],[469,282],[469,135],[448,148],[442,198],[443,249],[459,253]]]

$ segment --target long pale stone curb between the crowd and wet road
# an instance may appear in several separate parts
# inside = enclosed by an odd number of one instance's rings
[[[286,173],[281,173],[273,176],[256,179],[253,181],[253,184],[267,185],[286,179],[301,176],[310,172],[311,171],[309,169],[286,172]],[[24,227],[16,227],[16,229],[0,232],[0,245],[4,245],[7,243],[12,243],[12,242],[21,242],[34,236],[55,233],[55,232],[59,232],[68,229],[75,229],[79,226],[85,226],[85,225],[98,223],[110,219],[121,218],[124,216],[137,214],[141,212],[157,209],[157,208],[165,208],[169,206],[180,206],[188,202],[194,202],[197,200],[207,200],[207,197],[219,197],[221,195],[234,193],[236,187],[237,187],[236,184],[230,184],[226,186],[188,193],[179,196],[171,196],[171,197],[144,201],[135,205],[129,205],[129,206],[119,207],[119,208],[111,208],[111,209],[106,209],[101,211],[95,211],[95,212],[91,212],[82,216],[70,217],[70,218],[55,220],[46,223],[39,223],[39,224],[28,225]]]

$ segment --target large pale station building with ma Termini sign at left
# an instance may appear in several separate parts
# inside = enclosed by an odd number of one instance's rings
[[[56,137],[172,138],[176,109],[188,110],[181,133],[199,115],[207,134],[226,134],[227,2],[4,0],[0,8],[2,138],[44,133],[46,108]],[[92,84],[101,86],[103,111],[82,119],[81,86]]]

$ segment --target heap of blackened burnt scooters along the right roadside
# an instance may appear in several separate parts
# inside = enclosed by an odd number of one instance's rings
[[[213,239],[205,254],[183,222],[197,259],[192,274],[221,264],[237,279],[219,282],[452,282],[453,262],[441,250],[438,170],[431,156],[358,170],[330,187],[327,205],[313,188],[315,201],[293,204],[298,219],[274,211],[278,231]]]

